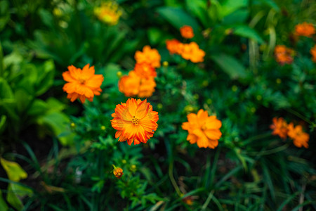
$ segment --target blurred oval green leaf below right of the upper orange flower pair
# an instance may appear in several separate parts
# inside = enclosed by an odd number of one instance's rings
[[[211,56],[211,59],[222,68],[232,79],[246,77],[246,69],[239,61],[224,53]]]

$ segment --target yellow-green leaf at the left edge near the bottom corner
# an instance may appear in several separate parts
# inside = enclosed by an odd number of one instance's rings
[[[27,172],[25,172],[17,162],[8,161],[4,158],[0,158],[0,162],[8,175],[8,179],[12,181],[20,181],[20,179],[27,178]]]

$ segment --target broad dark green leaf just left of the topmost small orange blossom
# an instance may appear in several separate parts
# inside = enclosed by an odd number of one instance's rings
[[[157,12],[177,30],[180,30],[183,25],[190,25],[195,33],[199,32],[199,24],[195,18],[192,18],[180,8],[160,7]]]

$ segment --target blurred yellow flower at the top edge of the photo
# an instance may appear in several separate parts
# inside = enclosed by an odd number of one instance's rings
[[[117,25],[119,17],[121,17],[121,11],[118,8],[116,3],[107,1],[100,7],[94,8],[94,14],[108,25]]]

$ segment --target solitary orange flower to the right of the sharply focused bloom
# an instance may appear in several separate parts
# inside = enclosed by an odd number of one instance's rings
[[[216,148],[218,139],[222,136],[220,127],[222,122],[216,116],[209,116],[207,111],[200,109],[197,115],[190,113],[187,115],[188,122],[183,122],[182,129],[189,132],[187,140],[190,143],[197,143],[199,148]]]

